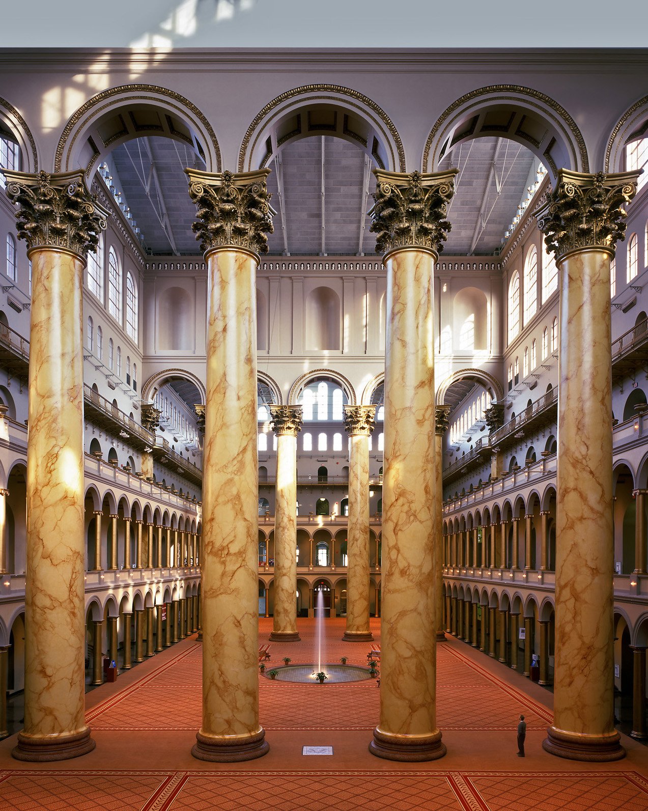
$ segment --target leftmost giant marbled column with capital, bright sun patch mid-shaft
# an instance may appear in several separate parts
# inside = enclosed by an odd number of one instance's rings
[[[106,212],[82,171],[4,170],[32,262],[24,730],[19,760],[94,749],[84,719],[83,276]]]

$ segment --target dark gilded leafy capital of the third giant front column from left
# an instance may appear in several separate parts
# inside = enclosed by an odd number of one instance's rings
[[[440,253],[452,225],[446,219],[457,169],[421,174],[374,169],[377,181],[369,212],[379,253],[424,247]]]

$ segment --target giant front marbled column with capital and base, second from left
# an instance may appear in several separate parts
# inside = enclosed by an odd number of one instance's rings
[[[208,263],[201,760],[268,752],[259,723],[255,273],[273,230],[265,178],[187,169]]]

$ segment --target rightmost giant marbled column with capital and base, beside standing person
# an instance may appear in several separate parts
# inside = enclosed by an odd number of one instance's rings
[[[610,262],[636,181],[561,169],[536,212],[560,280],[554,720],[543,747],[572,760],[624,757],[612,689]]]

